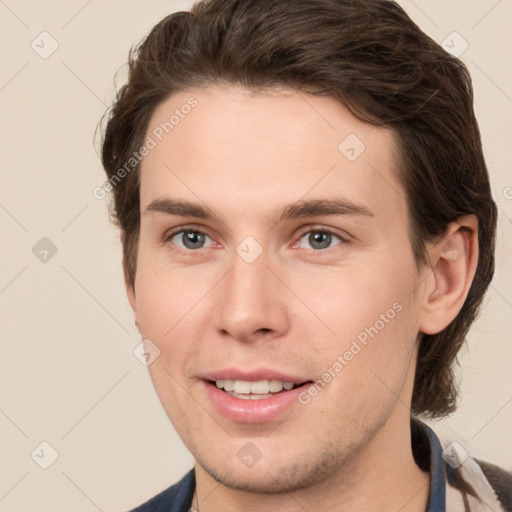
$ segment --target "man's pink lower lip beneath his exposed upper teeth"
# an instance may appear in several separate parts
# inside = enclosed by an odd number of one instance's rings
[[[268,398],[258,400],[235,398],[215,384],[203,381],[208,398],[226,418],[239,423],[264,423],[283,417],[294,405],[298,406],[298,395],[308,384],[290,391],[281,391]]]

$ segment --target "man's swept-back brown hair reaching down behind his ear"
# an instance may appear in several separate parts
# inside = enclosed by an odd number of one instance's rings
[[[105,117],[107,176],[142,146],[152,113],[170,94],[211,83],[326,95],[359,119],[391,128],[418,266],[428,263],[426,243],[448,223],[476,215],[475,278],[450,325],[422,335],[412,398],[413,413],[452,412],[452,366],[494,273],[497,222],[464,64],[388,0],[198,2],[190,12],[164,18],[132,49],[128,81]],[[113,187],[131,285],[140,229],[139,168]]]

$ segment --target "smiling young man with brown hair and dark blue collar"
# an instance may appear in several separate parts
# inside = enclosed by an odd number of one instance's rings
[[[136,510],[510,509],[442,456],[494,271],[471,81],[394,2],[212,0],[133,52],[103,163],[193,471]]]

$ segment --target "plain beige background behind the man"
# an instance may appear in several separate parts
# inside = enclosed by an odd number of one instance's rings
[[[500,208],[497,275],[461,354],[460,408],[439,429],[512,469],[512,1],[400,4],[437,41],[457,31],[469,44],[461,58]],[[120,244],[92,195],[115,72],[152,25],[190,5],[0,0],[0,511],[126,510],[192,465],[132,353]],[[51,49],[43,31],[59,45],[46,59],[31,47]],[[57,248],[46,262],[32,252],[43,237]],[[48,469],[43,441],[58,453]]]

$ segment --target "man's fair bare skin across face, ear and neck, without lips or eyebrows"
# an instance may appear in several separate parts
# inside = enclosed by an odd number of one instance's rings
[[[211,86],[168,98],[147,133],[191,96],[197,106],[141,166],[127,293],[142,337],[160,350],[150,375],[195,457],[199,510],[424,511],[429,475],[412,458],[409,424],[418,339],[462,307],[478,253],[476,235],[459,228],[476,232],[476,219],[449,225],[418,269],[392,132],[332,98]],[[352,162],[338,150],[349,134],[366,147]],[[335,197],[372,215],[276,223],[285,205]],[[207,205],[215,217],[147,211],[163,198]],[[180,228],[205,233],[204,247],[170,235]],[[309,235],[322,229],[335,236],[318,248]],[[248,236],[262,249],[252,263],[236,252]],[[286,417],[229,420],[205,393],[201,376],[226,367],[316,381],[396,303],[378,335]],[[237,457],[248,442],[261,453],[251,468]]]

